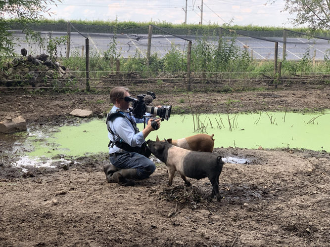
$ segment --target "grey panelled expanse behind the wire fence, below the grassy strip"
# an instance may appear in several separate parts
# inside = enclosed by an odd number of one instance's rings
[[[13,26],[12,28],[15,28]],[[49,37],[61,37],[67,35],[67,24],[56,25],[39,25],[33,26],[34,30],[41,32],[42,37],[49,40]],[[97,25],[74,24],[75,30],[71,31],[71,51],[82,53],[85,47],[85,37],[88,37],[93,44],[93,49],[98,53],[99,57],[103,56],[103,52],[107,51],[111,46],[113,39],[116,39],[116,49],[121,52],[123,57],[129,57],[137,52],[142,57],[146,56],[146,47],[148,40],[148,26],[139,28],[117,29],[116,27],[106,27]],[[19,27],[16,27],[19,28]],[[80,33],[78,33],[80,32]],[[176,37],[175,37],[175,36]],[[14,36],[19,38],[15,52],[20,54],[20,48],[26,47],[31,54],[40,54],[46,52],[39,43],[27,42],[25,35],[21,31],[15,31]],[[84,37],[85,36],[85,37]],[[160,57],[165,56],[166,52],[173,45],[178,49],[187,45],[182,40],[186,38],[195,42],[198,39],[206,38],[210,43],[217,45],[219,36],[223,36],[223,40],[236,39],[236,45],[242,50],[248,49],[252,51],[254,59],[274,59],[274,42],[279,42],[279,57],[283,58],[283,48],[286,49],[287,60],[299,60],[304,57],[306,52],[314,56],[316,60],[324,60],[329,53],[330,37],[328,34],[305,34],[291,30],[282,31],[235,31],[218,29],[183,29],[183,28],[161,28],[153,30],[151,54],[157,53]],[[286,43],[286,47],[283,44]],[[66,55],[66,44],[58,46],[59,56]]]

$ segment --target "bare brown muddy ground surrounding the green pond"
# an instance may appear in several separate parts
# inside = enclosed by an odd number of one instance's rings
[[[197,113],[330,109],[327,87],[189,96]],[[185,93],[157,95],[153,103],[189,113]],[[75,108],[96,117],[109,108],[108,93],[0,94],[0,121],[22,115],[43,127],[70,124]],[[134,187],[107,183],[106,154],[22,172],[11,166],[23,154],[9,139],[0,140],[0,246],[330,246],[329,153],[216,147],[224,157],[249,160],[224,165],[218,203],[208,179],[190,179],[189,188],[176,174],[167,187],[162,163]]]

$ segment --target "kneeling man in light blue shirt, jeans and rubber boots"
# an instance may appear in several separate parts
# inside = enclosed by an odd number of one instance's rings
[[[148,159],[151,152],[145,143],[145,138],[155,129],[151,126],[153,120],[149,118],[146,127],[139,131],[137,123],[143,123],[143,119],[136,119],[127,112],[130,102],[125,101],[126,96],[130,96],[126,87],[117,86],[110,92],[110,100],[114,105],[106,122],[110,139],[110,164],[103,168],[109,183],[133,186],[135,182],[129,179],[148,178],[156,169],[155,164]],[[118,112],[117,109],[124,112]],[[159,121],[155,120],[158,128]]]

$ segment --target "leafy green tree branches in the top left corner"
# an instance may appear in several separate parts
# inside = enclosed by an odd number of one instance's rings
[[[27,23],[36,22],[43,14],[52,14],[47,4],[60,0],[0,0],[0,55],[13,55],[14,38],[9,32],[11,22],[19,22],[27,37],[37,37]],[[38,39],[38,38],[36,38]]]

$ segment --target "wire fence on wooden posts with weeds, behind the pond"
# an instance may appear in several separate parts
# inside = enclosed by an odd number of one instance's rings
[[[328,86],[330,82],[330,39],[326,34],[175,29],[153,25],[118,29],[71,23],[35,26],[34,30],[40,32],[44,43],[28,41],[24,34],[13,31],[17,38],[15,53],[21,56],[21,48],[26,48],[27,58],[15,58],[11,66],[15,68],[10,70],[8,66],[0,73],[0,86],[86,86],[89,90],[91,86],[147,84],[162,90],[221,91],[260,85]],[[50,43],[55,43],[51,51]],[[38,55],[49,52],[57,62],[36,68],[36,63],[46,63],[40,61]],[[28,70],[21,66],[27,62],[31,63]]]

